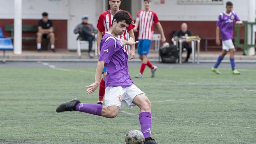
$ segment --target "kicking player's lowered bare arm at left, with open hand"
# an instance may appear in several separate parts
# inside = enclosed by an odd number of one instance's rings
[[[96,73],[95,73],[95,82],[93,84],[91,84],[90,86],[86,86],[86,88],[88,88],[86,90],[87,94],[93,93],[97,89],[97,87],[99,86],[104,64],[105,64],[104,61],[98,61],[97,68],[96,68]]]

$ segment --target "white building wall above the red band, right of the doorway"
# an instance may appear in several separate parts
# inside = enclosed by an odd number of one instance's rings
[[[243,21],[248,19],[248,0],[223,0],[223,5],[199,4],[184,5],[178,4],[178,0],[152,0],[151,10],[155,11],[161,21],[216,21],[219,13],[225,10],[227,1],[233,3],[233,10]],[[144,6],[141,6],[144,9]]]

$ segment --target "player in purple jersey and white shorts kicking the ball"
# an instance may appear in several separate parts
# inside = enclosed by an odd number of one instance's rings
[[[151,135],[151,102],[134,82],[131,80],[128,69],[128,55],[124,45],[134,45],[134,39],[128,40],[118,38],[131,24],[131,18],[126,11],[117,12],[112,21],[108,32],[100,42],[100,56],[97,64],[95,82],[86,86],[87,93],[93,93],[100,83],[103,67],[107,69],[105,76],[106,92],[105,106],[101,104],[82,104],[79,99],[72,99],[69,102],[60,104],[56,112],[80,111],[105,118],[115,118],[123,104],[133,108],[135,105],[140,107],[139,121],[141,131],[145,137],[144,144],[158,144]]]

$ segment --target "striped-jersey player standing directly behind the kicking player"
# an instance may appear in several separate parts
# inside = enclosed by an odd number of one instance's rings
[[[121,4],[121,0],[109,0],[110,9],[107,10],[107,11],[104,11],[99,16],[99,20],[98,20],[98,24],[97,24],[97,28],[98,28],[98,33],[97,33],[97,52],[98,52],[98,56],[100,55],[99,43],[102,39],[102,36],[110,29],[110,26],[112,24],[113,17],[115,15],[115,13],[120,11],[120,9],[119,9],[120,4]],[[130,15],[130,17],[131,17],[131,15]],[[135,27],[135,25],[134,25],[133,19],[131,18],[131,24],[128,26],[126,31],[122,35],[119,36],[119,38],[123,39],[123,40],[126,40],[126,38],[128,38],[128,37],[134,38],[134,33],[133,33],[133,28],[134,27]],[[130,59],[134,58],[134,56],[135,56],[135,46],[134,45],[131,46],[131,51],[130,52],[128,52],[128,49],[125,46],[125,51],[127,52],[127,54],[129,54]],[[103,74],[103,77],[102,77],[102,80],[99,84],[98,104],[103,103],[103,97],[104,97],[104,94],[105,94],[105,81],[104,81],[105,75],[106,75],[106,69],[105,68],[104,68],[102,74]]]

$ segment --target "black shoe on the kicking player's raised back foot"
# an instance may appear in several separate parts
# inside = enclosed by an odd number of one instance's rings
[[[79,99],[72,99],[71,101],[68,102],[63,102],[62,104],[60,104],[57,109],[56,112],[63,112],[63,111],[75,111],[76,110],[76,105],[81,103]]]

